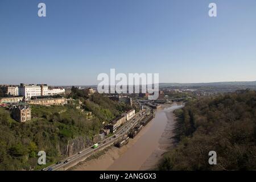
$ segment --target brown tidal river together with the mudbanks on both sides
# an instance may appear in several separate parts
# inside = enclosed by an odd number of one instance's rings
[[[85,160],[71,170],[148,170],[155,168],[164,152],[172,147],[174,115],[179,104],[164,105],[139,134],[122,148],[109,147],[98,158]]]

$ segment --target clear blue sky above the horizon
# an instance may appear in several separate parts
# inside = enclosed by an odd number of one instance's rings
[[[0,84],[97,84],[110,68],[160,82],[253,81],[256,1],[1,0],[0,63]]]

